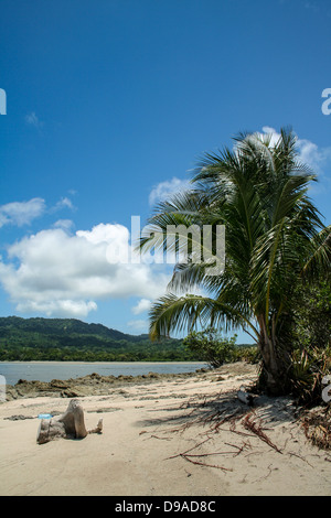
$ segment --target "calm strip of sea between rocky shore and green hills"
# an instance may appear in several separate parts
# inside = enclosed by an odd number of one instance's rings
[[[148,373],[180,374],[194,373],[206,367],[197,361],[0,361],[0,375],[8,385],[19,379],[51,381],[52,379],[70,379],[97,373],[102,376],[141,376]]]

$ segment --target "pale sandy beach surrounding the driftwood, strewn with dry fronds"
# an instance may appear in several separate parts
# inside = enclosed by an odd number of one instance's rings
[[[79,398],[86,428],[103,418],[103,434],[42,445],[38,414],[64,412],[70,399],[3,402],[0,494],[330,496],[331,452],[307,440],[293,401],[257,397],[252,408],[238,401],[236,391],[255,378],[255,366],[233,364],[114,387]]]

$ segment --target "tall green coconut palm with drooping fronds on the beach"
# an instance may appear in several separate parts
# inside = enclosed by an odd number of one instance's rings
[[[210,225],[215,249],[216,229],[224,225],[225,267],[210,274],[203,252],[200,262],[194,260],[191,236],[169,292],[151,309],[151,337],[191,331],[197,323],[242,327],[259,346],[265,387],[273,393],[287,391],[291,294],[299,282],[330,272],[331,226],[322,224],[307,194],[316,180],[298,161],[296,137],[288,129],[281,129],[276,144],[270,136],[241,133],[232,150],[206,153],[192,190],[156,207],[148,222],[153,234],[141,237],[140,249],[178,250],[173,228],[179,225]],[[204,294],[192,294],[196,288]]]

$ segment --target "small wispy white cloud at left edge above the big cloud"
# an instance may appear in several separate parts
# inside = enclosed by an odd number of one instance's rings
[[[0,227],[3,225],[30,225],[45,212],[45,201],[39,197],[29,202],[12,202],[0,206]]]

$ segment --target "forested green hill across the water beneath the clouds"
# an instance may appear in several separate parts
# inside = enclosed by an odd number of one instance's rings
[[[0,317],[0,360],[143,361],[197,359],[182,341],[151,343],[76,319]]]

